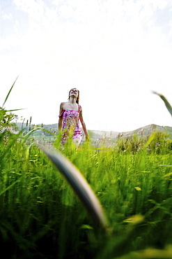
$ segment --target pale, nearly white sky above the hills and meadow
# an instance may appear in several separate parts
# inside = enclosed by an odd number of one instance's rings
[[[0,0],[3,104],[58,123],[72,87],[88,130],[172,126],[171,0]]]

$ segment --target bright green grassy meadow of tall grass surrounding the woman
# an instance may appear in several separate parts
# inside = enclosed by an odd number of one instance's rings
[[[119,137],[100,148],[87,142],[78,150],[61,149],[57,138],[56,166],[52,151],[33,139],[36,128],[16,134],[12,112],[0,108],[1,258],[172,258],[168,134]],[[100,202],[102,221],[81,202],[86,193],[82,186],[76,193],[79,182],[70,186],[70,167],[69,182],[61,174],[68,162]]]

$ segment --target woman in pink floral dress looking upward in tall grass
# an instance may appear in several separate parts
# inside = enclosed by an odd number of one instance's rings
[[[58,132],[62,134],[61,144],[65,144],[71,136],[78,148],[82,136],[79,128],[79,120],[84,130],[84,134],[86,135],[86,139],[88,139],[88,132],[82,117],[82,109],[79,105],[79,90],[76,88],[70,90],[68,102],[61,103],[59,114]]]

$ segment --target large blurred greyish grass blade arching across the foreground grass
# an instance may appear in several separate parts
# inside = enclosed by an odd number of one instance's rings
[[[78,169],[58,151],[48,151],[42,147],[41,150],[45,155],[47,155],[49,160],[56,165],[57,169],[63,174],[63,176],[65,176],[65,179],[67,179],[70,186],[75,190],[75,193],[77,193],[89,214],[91,214],[95,221],[100,223],[102,227],[107,228],[107,219],[104,216],[100,202],[97,200],[93,190],[86,182],[86,179],[84,179],[84,176],[82,176]]]

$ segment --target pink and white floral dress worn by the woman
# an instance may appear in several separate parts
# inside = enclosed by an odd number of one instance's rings
[[[78,105],[78,111],[63,110],[59,118],[63,118],[62,125],[62,138],[61,144],[65,144],[72,134],[72,139],[77,139],[82,136],[81,130],[79,128],[79,112],[81,111],[81,106]]]

